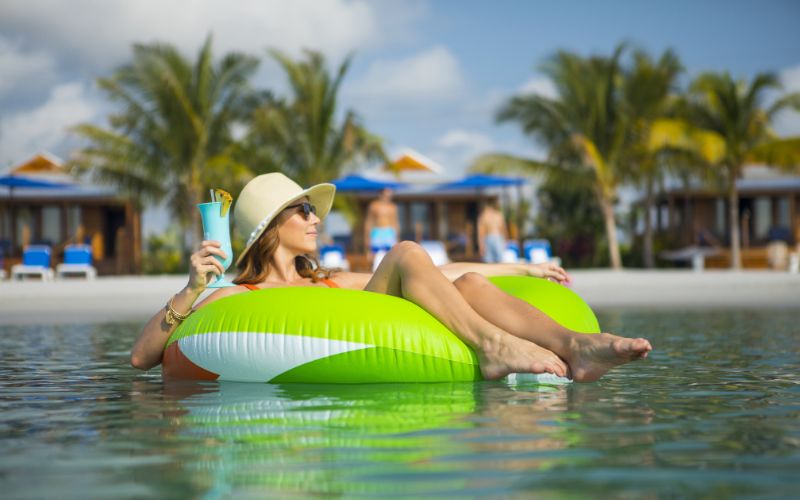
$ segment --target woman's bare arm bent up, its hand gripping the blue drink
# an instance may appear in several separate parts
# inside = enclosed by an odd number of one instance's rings
[[[214,276],[223,273],[225,270],[222,264],[219,263],[214,255],[219,255],[225,258],[225,252],[220,248],[217,241],[204,241],[201,244],[200,250],[192,254],[191,266],[189,271],[189,283],[178,292],[172,300],[172,309],[179,314],[185,314],[192,310],[192,305],[197,301],[200,295],[206,289],[206,283],[209,281],[209,276]],[[221,288],[209,295],[198,306],[202,307],[209,302],[239,293],[237,290],[240,287]],[[164,345],[169,340],[169,336],[180,324],[175,321],[175,324],[168,324],[166,321],[166,307],[159,310],[150,321],[147,322],[144,329],[136,339],[131,349],[131,365],[140,370],[149,370],[150,368],[161,363],[161,357],[164,353]]]

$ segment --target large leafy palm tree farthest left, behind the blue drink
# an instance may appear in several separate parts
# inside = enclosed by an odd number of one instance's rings
[[[201,238],[196,205],[207,188],[248,173],[234,160],[231,129],[247,116],[243,103],[257,66],[239,53],[215,63],[211,36],[194,62],[171,45],[134,45],[130,64],[98,80],[120,109],[109,128],[75,127],[88,145],[71,170],[116,186],[140,208],[166,198],[194,248]]]

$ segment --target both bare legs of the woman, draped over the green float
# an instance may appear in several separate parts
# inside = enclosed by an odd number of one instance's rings
[[[451,283],[413,242],[395,245],[365,290],[405,298],[431,313],[475,349],[481,373],[489,380],[518,372],[591,381],[651,350],[645,339],[563,328],[476,273]]]

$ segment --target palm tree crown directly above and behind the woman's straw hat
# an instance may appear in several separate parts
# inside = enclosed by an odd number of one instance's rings
[[[270,54],[286,72],[290,96],[265,95],[254,112],[245,148],[259,171],[280,170],[309,185],[339,177],[358,161],[386,161],[381,139],[353,111],[337,113],[350,58],[331,75],[318,52],[306,51],[299,61],[277,50]]]

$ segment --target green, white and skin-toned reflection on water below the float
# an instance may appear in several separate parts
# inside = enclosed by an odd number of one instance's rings
[[[568,407],[563,387],[172,382],[161,394],[136,392],[169,400],[170,439],[205,448],[185,472],[213,478],[216,492],[419,494],[431,483],[458,491],[471,487],[482,462],[514,470],[563,461],[545,452],[568,439],[530,412],[541,398],[537,411],[558,418]]]

